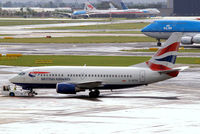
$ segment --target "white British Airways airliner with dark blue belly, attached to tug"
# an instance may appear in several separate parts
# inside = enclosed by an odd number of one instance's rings
[[[90,90],[98,97],[99,90],[122,89],[148,85],[174,78],[186,67],[173,68],[180,45],[181,33],[173,33],[147,62],[130,67],[48,66],[34,67],[19,73],[10,82],[25,90],[56,88],[57,93],[76,94]]]

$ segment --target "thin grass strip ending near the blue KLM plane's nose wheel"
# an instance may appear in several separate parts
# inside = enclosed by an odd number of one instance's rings
[[[55,37],[55,38],[14,38],[0,39],[0,43],[129,43],[155,42],[150,37],[130,36],[87,36],[87,37]]]

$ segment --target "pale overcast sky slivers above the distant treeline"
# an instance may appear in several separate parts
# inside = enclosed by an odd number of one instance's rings
[[[28,1],[33,1],[33,2],[44,2],[44,1],[57,1],[57,0],[0,0],[0,2],[6,2],[6,1],[12,1],[12,2],[28,2]],[[63,2],[86,2],[86,1],[90,1],[90,2],[97,2],[100,0],[59,0],[59,1],[63,1]],[[101,0],[102,1],[102,0]],[[109,0],[103,0],[103,1],[109,1]],[[151,3],[151,2],[166,2],[167,0],[123,0],[124,2],[133,2],[133,3]]]

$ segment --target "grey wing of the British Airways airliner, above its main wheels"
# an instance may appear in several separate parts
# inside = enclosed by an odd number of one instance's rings
[[[87,82],[70,82],[71,84],[75,84],[79,88],[95,88],[102,85],[102,81],[87,81]]]

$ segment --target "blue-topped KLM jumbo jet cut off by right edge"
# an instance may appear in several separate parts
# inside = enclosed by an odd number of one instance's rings
[[[173,32],[183,32],[182,44],[200,43],[200,21],[198,20],[157,20],[141,30],[145,35],[160,39],[168,39]]]

